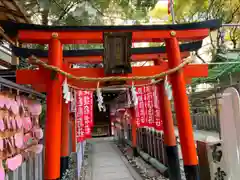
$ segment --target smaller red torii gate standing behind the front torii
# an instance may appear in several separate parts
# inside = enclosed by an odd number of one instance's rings
[[[188,51],[181,52],[181,57],[186,58],[190,55]],[[94,56],[64,56],[64,62],[66,64],[72,64],[72,63],[100,63],[102,62],[102,57],[97,59]],[[89,59],[90,58],[90,59]],[[159,54],[141,54],[141,55],[132,55],[131,60],[132,61],[154,61],[156,65],[162,65],[163,67],[167,66],[167,62],[164,61],[166,59],[166,53],[159,53]],[[44,62],[47,62],[47,58],[40,58]],[[74,60],[74,61],[73,61]],[[194,68],[194,65],[191,65],[192,68]],[[69,66],[68,66],[69,67]],[[208,65],[197,65],[196,71],[198,72],[199,76],[207,76],[207,69]],[[194,68],[194,69],[195,69]],[[166,68],[167,69],[167,68]],[[191,69],[193,70],[193,69]],[[191,77],[187,77],[188,75],[191,76],[191,71],[186,72],[186,82],[190,82]],[[194,75],[194,74],[192,74]],[[197,77],[197,75],[196,75]],[[33,87],[41,92],[46,92],[45,85],[39,85],[39,84],[33,84]],[[171,180],[180,180],[181,179],[181,173],[180,173],[180,165],[179,165],[179,157],[178,157],[178,147],[176,145],[176,137],[174,133],[174,125],[172,120],[172,114],[171,114],[171,107],[170,103],[168,101],[168,98],[165,96],[164,93],[164,84],[163,82],[159,83],[159,90],[161,94],[161,108],[163,111],[161,112],[162,118],[164,119],[164,135],[165,135],[165,149],[167,153],[168,158],[168,169],[170,174]],[[67,104],[62,105],[62,129],[61,129],[61,175],[68,169],[68,119],[69,119],[69,108]],[[131,108],[130,112],[132,114],[132,148],[133,148],[133,155],[137,156],[137,125],[136,125],[136,117],[135,117],[135,109]],[[72,131],[75,131],[74,127],[72,128]],[[73,138],[72,144],[76,144],[75,138]],[[73,148],[74,149],[74,148]]]

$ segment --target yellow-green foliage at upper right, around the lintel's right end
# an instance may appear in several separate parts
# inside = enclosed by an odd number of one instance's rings
[[[240,22],[239,0],[174,0],[175,20],[177,23],[204,21],[209,19],[221,19],[223,23]],[[155,10],[157,12],[157,10]],[[160,12],[161,13],[161,12]],[[157,17],[157,14],[155,15]],[[171,19],[169,19],[171,20]],[[221,31],[226,31],[228,40],[234,44],[234,48],[240,43],[240,29],[237,27],[222,28],[217,31],[216,37],[211,37],[212,50],[222,48],[220,41]]]

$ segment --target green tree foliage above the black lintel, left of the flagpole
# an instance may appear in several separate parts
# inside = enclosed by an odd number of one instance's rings
[[[20,0],[34,23],[105,24],[111,20],[145,19],[157,0]]]

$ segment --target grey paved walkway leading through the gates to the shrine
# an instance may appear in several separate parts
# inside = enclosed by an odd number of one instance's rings
[[[112,141],[100,138],[91,143],[92,180],[139,180],[133,177],[130,165]]]

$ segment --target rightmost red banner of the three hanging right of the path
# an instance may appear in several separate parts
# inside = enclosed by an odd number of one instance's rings
[[[153,86],[153,104],[154,104],[154,119],[155,119],[155,129],[157,131],[163,130],[163,122],[160,113],[160,101],[159,101],[159,88],[158,86]]]

